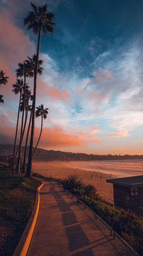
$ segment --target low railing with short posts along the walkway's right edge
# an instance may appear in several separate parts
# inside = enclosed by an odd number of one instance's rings
[[[61,185],[61,183],[59,183],[59,184],[60,184],[61,188],[64,189],[64,191],[67,192],[67,194],[70,194],[72,198],[75,198],[75,199],[77,200],[77,202],[82,203],[82,204],[84,205],[84,208],[85,208],[85,209],[88,209],[88,210],[93,214],[95,220],[99,219],[99,220],[109,229],[109,231],[110,231],[110,236],[113,236],[113,239],[118,238],[118,239],[122,242],[122,244],[124,244],[125,247],[132,253],[132,255],[134,255],[134,256],[140,256],[138,253],[136,253],[136,252],[133,250],[133,248],[132,248],[128,243],[126,243],[126,241],[125,241],[122,237],[119,236],[119,234],[117,234],[105,221],[103,221],[103,219],[102,219],[100,216],[98,216],[98,215],[97,215],[94,211],[92,211],[85,203],[83,203],[81,200],[79,200],[76,196],[74,196],[72,193],[70,193],[67,189],[63,188],[63,186]],[[140,207],[140,208],[141,208],[141,207]],[[143,210],[143,208],[142,208],[142,210]]]

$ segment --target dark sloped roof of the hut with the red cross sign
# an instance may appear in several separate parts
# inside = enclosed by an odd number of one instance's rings
[[[125,186],[125,187],[143,187],[143,175],[110,179],[110,180],[106,180],[106,182]]]

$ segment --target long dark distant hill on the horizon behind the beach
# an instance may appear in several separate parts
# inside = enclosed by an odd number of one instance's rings
[[[16,146],[16,149],[18,146]],[[29,152],[29,147],[27,149]],[[0,155],[12,155],[13,145],[0,144]],[[21,149],[21,157],[24,154],[24,146]],[[27,154],[28,155],[28,154]],[[85,153],[72,153],[55,150],[44,150],[37,148],[33,157],[34,161],[91,161],[91,160],[128,160],[128,159],[143,159],[143,155],[95,155]]]

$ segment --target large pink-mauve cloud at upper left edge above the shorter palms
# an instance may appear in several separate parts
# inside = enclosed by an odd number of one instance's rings
[[[13,23],[10,13],[4,10],[0,12],[0,31],[0,69],[9,77],[6,86],[1,86],[1,93],[5,98],[10,98],[14,96],[11,85],[16,82],[17,63],[34,53],[35,47],[29,36]]]

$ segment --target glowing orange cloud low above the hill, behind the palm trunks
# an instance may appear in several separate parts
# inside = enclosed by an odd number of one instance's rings
[[[10,113],[11,114],[11,113]],[[0,143],[1,144],[13,144],[16,124],[13,124],[13,115],[10,120],[7,122],[7,117],[4,115],[0,116]],[[20,122],[19,122],[20,124]],[[26,128],[27,131],[27,128]],[[35,127],[34,133],[34,145],[36,145],[39,138],[40,128]],[[26,132],[25,132],[26,135]],[[17,138],[17,144],[20,137],[20,125]],[[30,136],[29,136],[30,137]],[[23,139],[23,145],[25,138]],[[71,146],[87,146],[87,141],[84,138],[79,138],[74,134],[65,133],[62,128],[53,126],[52,128],[43,128],[42,135],[38,147],[41,148],[62,148],[62,147],[71,147]]]

